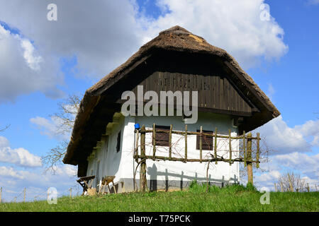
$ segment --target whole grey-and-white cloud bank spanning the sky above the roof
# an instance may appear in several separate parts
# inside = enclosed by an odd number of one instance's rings
[[[243,66],[254,65],[259,57],[278,59],[288,49],[282,39],[284,30],[274,18],[260,20],[262,0],[162,0],[157,5],[167,13],[157,19],[138,13],[133,0],[90,4],[56,0],[57,21],[47,20],[50,3],[0,0],[0,20],[33,41],[8,33],[7,41],[1,41],[1,56],[6,60],[1,84],[6,85],[0,91],[0,101],[35,90],[57,96],[55,85],[63,81],[57,74],[61,57],[77,57],[78,75],[101,78],[159,31],[174,25],[222,47]]]

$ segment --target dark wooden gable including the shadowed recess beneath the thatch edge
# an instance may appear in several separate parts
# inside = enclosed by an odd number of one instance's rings
[[[160,60],[160,55],[149,59],[144,71],[140,70],[140,74],[131,76],[133,80],[128,78],[126,82],[130,83],[129,90],[135,93],[135,97],[138,97],[138,85],[143,86],[144,93],[152,90],[157,95],[160,91],[198,91],[200,112],[242,117],[250,117],[252,112],[258,112],[257,107],[215,61],[201,59],[201,55],[196,59],[194,55],[187,57],[185,54],[170,54],[167,58],[164,62]],[[169,58],[172,58],[172,61]],[[118,102],[121,102],[120,98]]]

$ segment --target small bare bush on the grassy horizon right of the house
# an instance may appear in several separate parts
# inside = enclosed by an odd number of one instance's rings
[[[309,186],[306,186],[305,179],[301,179],[300,174],[295,174],[293,172],[286,172],[281,177],[279,177],[278,182],[279,191],[306,191],[310,190]]]

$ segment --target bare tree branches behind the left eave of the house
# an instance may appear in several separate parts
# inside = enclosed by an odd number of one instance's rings
[[[67,136],[72,133],[72,128],[74,124],[77,111],[79,110],[79,104],[81,102],[81,97],[79,95],[69,95],[67,99],[58,104],[58,112],[50,115],[52,119],[57,121],[57,131],[56,133],[61,136]],[[65,139],[58,143],[55,148],[49,150],[45,156],[42,157],[44,165],[46,165],[46,171],[52,170],[55,172],[57,165],[62,164],[62,159],[67,153],[67,145],[69,141]]]

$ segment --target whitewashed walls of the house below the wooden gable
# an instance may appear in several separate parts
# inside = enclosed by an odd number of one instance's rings
[[[152,124],[160,126],[170,126],[173,129],[184,131],[185,124],[181,117],[123,117],[117,126],[113,126],[111,134],[96,155],[91,157],[87,169],[87,175],[91,172],[96,175],[96,167],[99,164],[100,179],[106,175],[115,175],[115,182],[118,183],[120,191],[133,190],[133,169],[136,162],[133,160],[133,149],[135,143],[134,124],[143,124],[146,128],[152,129]],[[228,134],[231,129],[232,136],[237,135],[237,128],[233,126],[233,120],[227,115],[213,113],[199,113],[196,124],[188,124],[188,131],[196,131],[203,126],[203,130],[214,131],[218,128],[218,133]],[[116,138],[118,132],[121,131],[121,151],[116,153]],[[223,144],[219,141],[219,144]],[[152,155],[152,133],[147,133],[145,138],[146,153]],[[172,135],[172,157],[184,157],[184,137],[177,134]],[[199,150],[196,150],[196,136],[188,136],[188,158],[199,158]],[[225,146],[218,145],[219,150],[228,149],[228,143]],[[233,149],[238,150],[238,141],[232,142]],[[157,147],[157,154],[169,156],[168,147]],[[211,153],[213,153],[211,151]],[[222,151],[218,151],[218,155],[223,155]],[[208,151],[203,150],[203,158],[208,155]],[[237,153],[233,153],[233,157],[237,157]],[[223,155],[227,158],[228,153]],[[163,186],[169,186],[169,189],[178,189],[186,186],[187,183],[196,179],[197,181],[206,182],[207,162],[172,162],[172,161],[153,161],[147,160],[147,184],[157,189],[163,189]],[[235,162],[229,165],[228,162],[218,162],[218,165],[212,163],[209,169],[210,182],[216,184],[227,184],[239,181],[239,163]],[[139,168],[136,179],[139,179]],[[157,181],[157,182],[156,182]],[[139,182],[137,182],[139,184]]]

